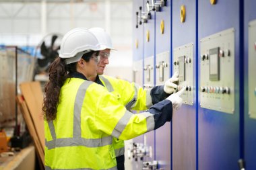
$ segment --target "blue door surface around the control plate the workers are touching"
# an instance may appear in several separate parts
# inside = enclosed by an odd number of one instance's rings
[[[185,22],[181,23],[181,5],[185,5]],[[172,1],[172,49],[193,43],[193,87],[195,87],[195,1]],[[172,56],[173,50],[172,50]],[[172,60],[173,63],[173,60]],[[183,104],[172,116],[172,169],[186,170],[196,168],[195,145],[195,88],[193,105]]]

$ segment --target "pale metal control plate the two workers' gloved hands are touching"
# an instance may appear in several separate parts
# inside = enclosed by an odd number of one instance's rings
[[[186,91],[181,95],[183,103],[193,105],[193,48],[194,44],[189,43],[184,46],[174,48],[173,52],[173,70],[179,72],[178,90],[183,87]]]

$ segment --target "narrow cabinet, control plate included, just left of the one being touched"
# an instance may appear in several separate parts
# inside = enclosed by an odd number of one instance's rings
[[[170,65],[171,1],[165,1],[165,3],[160,11],[156,11],[155,18],[156,85],[164,85],[165,81],[170,79],[172,69]],[[155,131],[155,160],[158,161],[158,169],[171,169],[171,123],[166,122],[164,126]]]

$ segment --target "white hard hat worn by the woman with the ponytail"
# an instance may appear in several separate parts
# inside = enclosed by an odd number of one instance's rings
[[[104,46],[86,28],[75,28],[67,32],[61,40],[59,57],[67,58],[65,63],[68,65],[79,61],[83,54],[92,50],[104,50]]]

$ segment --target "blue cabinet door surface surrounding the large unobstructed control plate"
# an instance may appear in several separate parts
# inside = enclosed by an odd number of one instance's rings
[[[198,0],[198,5],[198,40],[201,40],[201,38],[204,38],[205,36],[210,36],[217,32],[221,32],[222,30],[234,28],[235,68],[239,68],[239,47],[241,46],[241,44],[239,44],[239,1],[217,1],[216,5],[211,5],[210,1]],[[198,42],[198,44],[200,43]],[[200,46],[198,51],[200,51]],[[198,63],[198,65],[200,67],[200,63]],[[240,69],[234,70],[234,114],[207,110],[198,105],[199,169],[238,169],[237,161],[240,155]],[[241,73],[243,73],[243,71],[241,71]],[[198,76],[200,82],[200,72]]]

